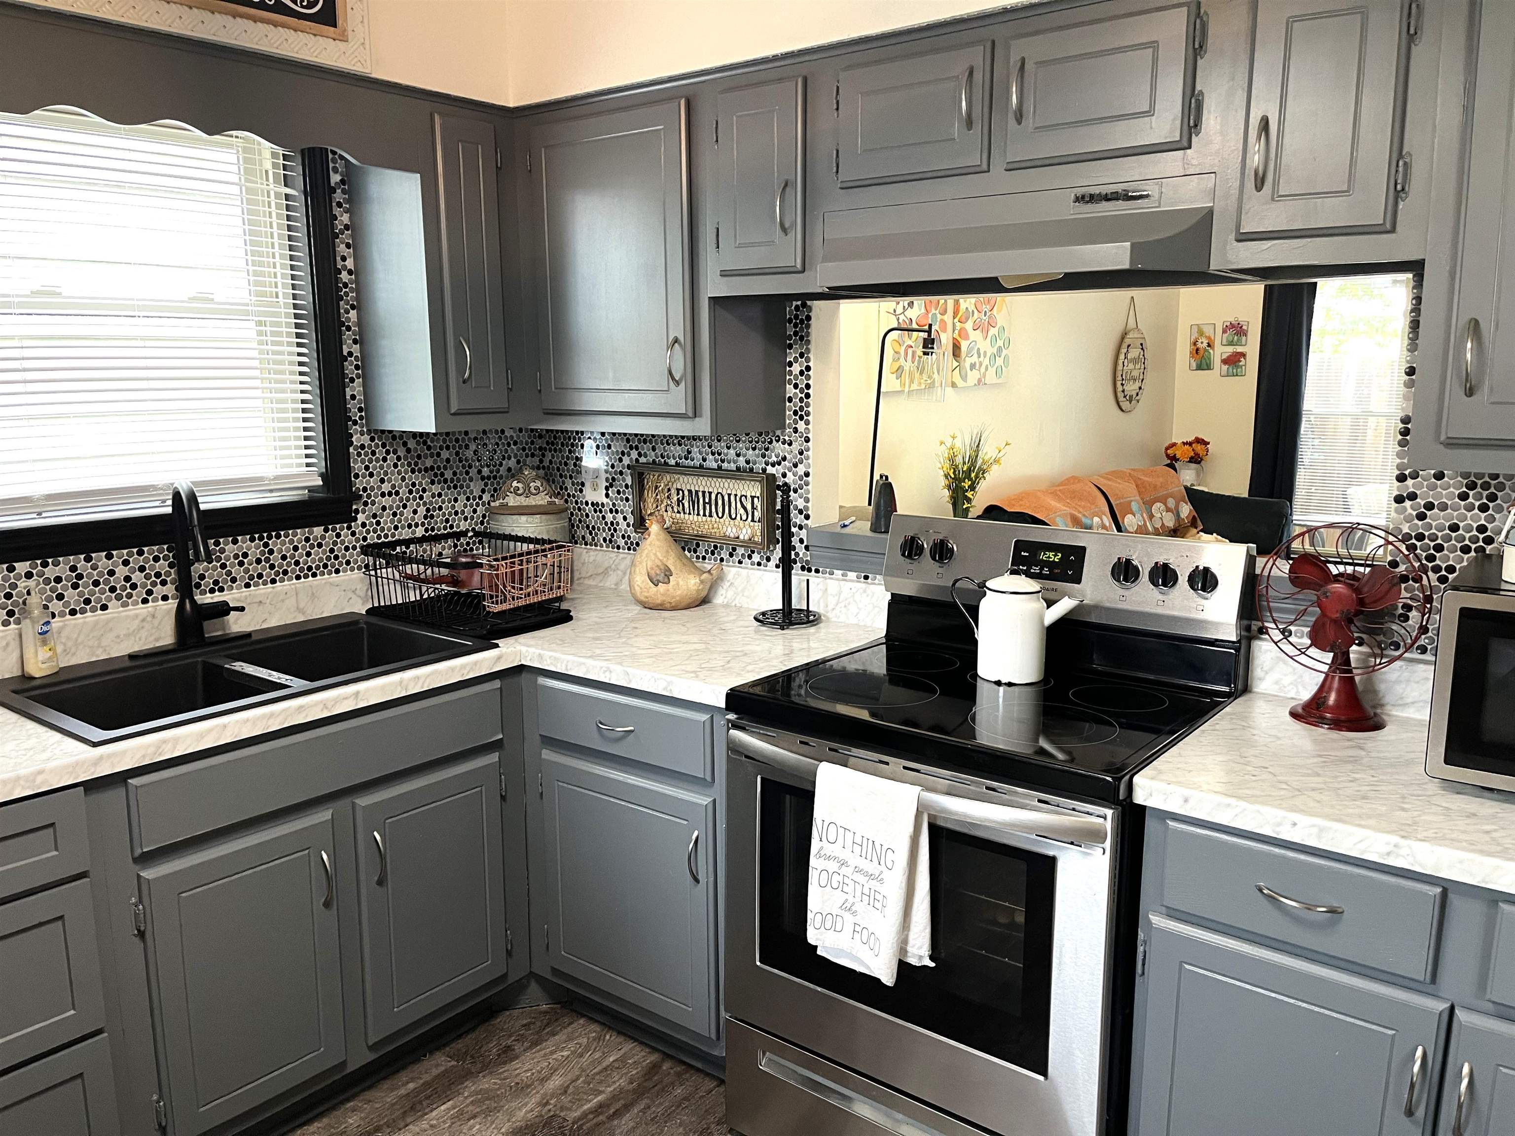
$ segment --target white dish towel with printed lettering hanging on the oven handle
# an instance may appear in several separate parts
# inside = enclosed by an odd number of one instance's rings
[[[806,939],[894,986],[932,962],[932,863],[921,791],[835,762],[815,776]]]

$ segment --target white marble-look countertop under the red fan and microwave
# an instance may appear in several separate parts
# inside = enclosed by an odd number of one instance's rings
[[[1289,718],[1245,694],[1136,776],[1153,809],[1515,894],[1515,795],[1426,776],[1426,721],[1379,733]]]

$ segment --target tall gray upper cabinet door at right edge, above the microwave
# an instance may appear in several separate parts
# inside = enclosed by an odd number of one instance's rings
[[[1442,435],[1515,442],[1515,5],[1483,5],[1473,82]]]

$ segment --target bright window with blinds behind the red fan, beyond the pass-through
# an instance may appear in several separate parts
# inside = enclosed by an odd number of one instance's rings
[[[1409,300],[1407,276],[1317,285],[1294,489],[1300,527],[1389,523]]]

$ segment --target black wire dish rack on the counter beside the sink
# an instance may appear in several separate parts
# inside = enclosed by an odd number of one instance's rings
[[[370,615],[503,639],[568,623],[573,545],[462,529],[362,545]]]

